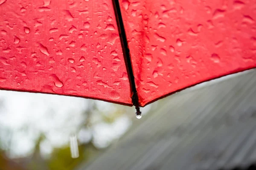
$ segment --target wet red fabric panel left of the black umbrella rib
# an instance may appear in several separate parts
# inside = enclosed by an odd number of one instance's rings
[[[131,105],[111,0],[0,4],[0,88]]]

